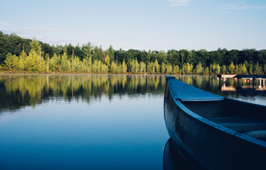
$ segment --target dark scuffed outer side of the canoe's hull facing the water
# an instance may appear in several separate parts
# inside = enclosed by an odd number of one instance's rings
[[[171,88],[171,87],[170,87]],[[167,131],[185,159],[197,169],[263,169],[265,147],[215,127],[173,97],[167,81],[164,98]],[[226,130],[225,130],[226,131]]]

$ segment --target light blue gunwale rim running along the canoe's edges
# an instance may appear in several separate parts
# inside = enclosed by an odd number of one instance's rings
[[[170,77],[170,78],[174,78],[174,77]],[[196,113],[192,112],[191,110],[189,110],[187,107],[185,107],[181,101],[184,101],[184,100],[181,100],[181,99],[176,99],[175,95],[173,94],[173,90],[171,88],[171,83],[169,81],[169,77],[166,78],[167,79],[167,84],[169,86],[169,91],[170,91],[170,94],[173,98],[173,101],[175,101],[176,105],[181,109],[183,110],[186,114],[187,117],[190,117],[193,119],[193,121],[199,123],[199,124],[202,124],[202,125],[208,125],[212,128],[215,128],[219,131],[222,131],[223,133],[226,133],[230,136],[234,136],[236,138],[239,138],[241,140],[245,140],[245,141],[248,141],[248,142],[251,142],[253,144],[257,144],[259,146],[263,146],[263,147],[266,147],[266,142],[265,141],[262,141],[262,140],[259,140],[259,139],[256,139],[256,138],[253,138],[251,136],[247,136],[245,134],[241,134],[239,132],[236,132],[234,130],[231,130],[231,129],[228,129],[224,126],[221,126],[221,125],[218,125],[212,121],[209,121],[208,119],[205,119],[204,117],[201,117],[199,115],[197,115]],[[180,81],[180,80],[178,80]],[[188,84],[189,85],[189,84]],[[191,86],[191,85],[189,85]],[[201,90],[201,89],[200,89]],[[205,91],[205,90],[203,90]],[[208,92],[210,93],[210,92]],[[241,103],[247,103],[247,102],[243,102],[243,101],[238,101],[238,100],[235,100],[235,99],[231,99],[231,98],[227,98],[225,97],[224,98],[225,100],[231,100],[231,101],[236,101],[236,102],[241,102]],[[197,101],[197,102],[205,102],[205,101]],[[253,104],[253,103],[248,103],[248,104],[252,104],[252,105],[257,105],[257,104]],[[258,105],[258,106],[261,106],[261,105]]]

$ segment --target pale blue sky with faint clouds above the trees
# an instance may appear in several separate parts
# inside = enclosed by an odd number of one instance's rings
[[[266,49],[266,1],[1,0],[0,31],[103,49]]]

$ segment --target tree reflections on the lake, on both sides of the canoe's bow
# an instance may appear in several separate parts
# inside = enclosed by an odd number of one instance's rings
[[[230,96],[254,96],[265,94],[266,91],[245,89],[252,85],[244,80],[235,82],[228,78],[226,86],[232,86],[234,91],[222,91],[223,80],[216,76],[174,75],[177,79],[203,90]],[[112,101],[114,95],[130,98],[144,97],[146,94],[164,94],[165,75],[140,74],[0,74],[0,108],[18,109],[21,106],[35,106],[47,100],[71,101],[83,100],[88,103],[105,95]],[[219,84],[220,83],[220,84]],[[255,80],[255,86],[259,81]]]

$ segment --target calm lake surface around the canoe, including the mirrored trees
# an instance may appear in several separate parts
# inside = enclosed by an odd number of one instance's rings
[[[224,87],[216,76],[176,77],[266,105],[259,80],[228,78]],[[165,83],[165,75],[0,74],[0,169],[187,168],[168,142]]]

